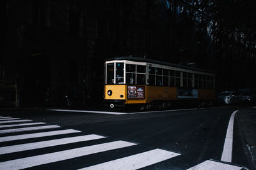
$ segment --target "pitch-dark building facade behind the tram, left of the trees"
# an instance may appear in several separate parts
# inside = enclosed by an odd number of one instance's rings
[[[77,106],[101,101],[104,59],[165,55],[159,18],[166,1],[4,3],[0,83],[17,86],[20,107],[62,106],[67,94]]]

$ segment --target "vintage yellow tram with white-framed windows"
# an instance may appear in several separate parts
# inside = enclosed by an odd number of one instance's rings
[[[215,98],[215,74],[209,71],[140,57],[105,62],[104,103],[111,108],[170,106],[175,101],[211,103]]]

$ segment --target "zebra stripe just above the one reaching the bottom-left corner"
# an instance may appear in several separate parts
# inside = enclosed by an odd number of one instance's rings
[[[0,155],[6,154],[6,153],[21,152],[25,150],[35,150],[38,148],[46,148],[50,146],[65,145],[68,143],[77,143],[81,141],[90,141],[90,140],[102,139],[102,138],[106,138],[106,137],[99,136],[96,134],[89,134],[84,136],[53,139],[49,141],[40,141],[35,143],[25,143],[20,145],[4,146],[4,147],[0,147]]]

